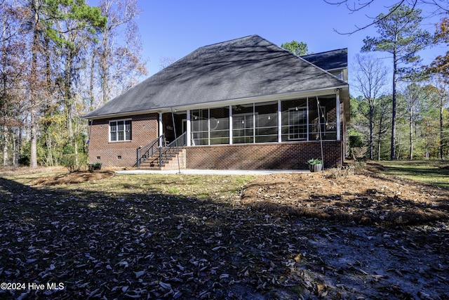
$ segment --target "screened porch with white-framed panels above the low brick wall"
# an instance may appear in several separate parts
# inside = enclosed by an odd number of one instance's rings
[[[187,131],[187,145],[340,140],[337,101],[334,94],[189,110],[174,117],[186,118],[177,135]]]

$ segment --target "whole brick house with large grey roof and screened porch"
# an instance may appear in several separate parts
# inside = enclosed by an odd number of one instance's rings
[[[85,116],[89,162],[306,169],[344,161],[347,49],[298,57],[252,35],[203,46]]]

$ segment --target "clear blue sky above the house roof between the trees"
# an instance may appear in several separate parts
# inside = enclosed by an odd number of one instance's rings
[[[89,2],[95,5],[98,1]],[[377,36],[375,27],[349,36],[335,30],[350,32],[356,25],[366,25],[370,18],[386,13],[389,5],[389,0],[377,0],[363,11],[349,13],[346,7],[323,0],[138,0],[142,13],[136,21],[149,75],[160,70],[163,57],[180,59],[201,46],[251,34],[279,46],[287,41],[304,41],[312,53],[348,48],[351,64],[363,39]],[[427,24],[427,29],[434,32],[434,25]],[[423,63],[430,63],[445,51],[441,46],[422,53]],[[385,63],[391,64],[387,59]]]

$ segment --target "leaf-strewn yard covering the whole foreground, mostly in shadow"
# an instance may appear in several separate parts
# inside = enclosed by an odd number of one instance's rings
[[[444,191],[306,175],[3,174],[0,298],[449,299]]]

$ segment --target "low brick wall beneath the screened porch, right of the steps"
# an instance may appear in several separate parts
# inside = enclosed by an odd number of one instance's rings
[[[323,141],[325,167],[342,165],[342,142]],[[260,143],[186,148],[187,169],[307,169],[321,158],[319,142]]]

